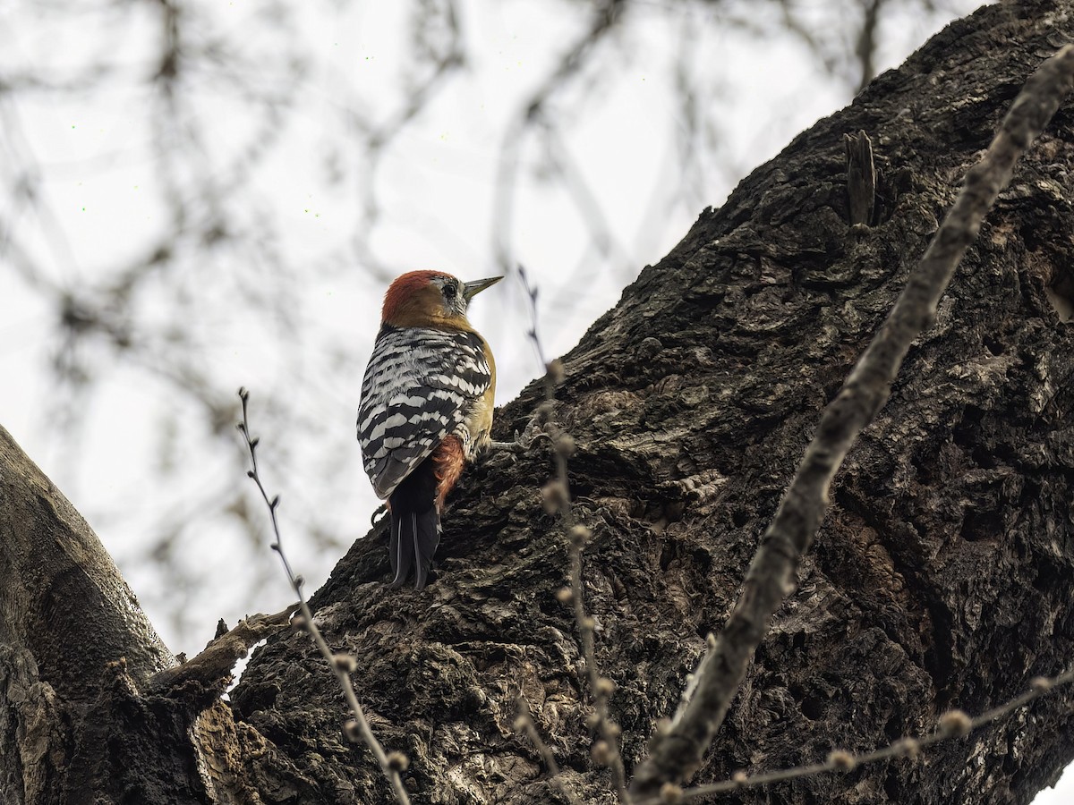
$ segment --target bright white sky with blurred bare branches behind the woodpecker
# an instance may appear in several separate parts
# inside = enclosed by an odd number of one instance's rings
[[[376,506],[353,419],[391,277],[522,262],[560,354],[745,171],[975,4],[0,6],[0,419],[194,652],[289,596],[235,385],[303,479],[287,527],[316,586]],[[531,379],[524,305],[476,311],[502,400]]]

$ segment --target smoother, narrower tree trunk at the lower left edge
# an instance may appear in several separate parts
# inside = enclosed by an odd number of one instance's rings
[[[0,428],[0,802],[207,802],[187,733],[219,691],[140,694],[173,663],[97,536]]]

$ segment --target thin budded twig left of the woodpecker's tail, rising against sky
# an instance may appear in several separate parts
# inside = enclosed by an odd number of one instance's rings
[[[364,741],[365,745],[369,747],[369,751],[377,759],[377,763],[380,764],[380,770],[384,773],[388,781],[391,782],[392,790],[395,792],[395,799],[401,803],[401,805],[409,805],[410,797],[407,796],[406,788],[403,786],[403,779],[400,777],[400,772],[405,771],[408,764],[407,758],[402,752],[384,752],[384,748],[377,741],[377,736],[373,734],[373,730],[369,728],[369,722],[365,719],[365,713],[362,711],[362,705],[358,702],[358,697],[354,693],[354,686],[350,680],[350,674],[355,669],[355,660],[352,655],[349,654],[335,654],[325,642],[324,638],[321,635],[320,629],[317,628],[317,624],[314,623],[314,613],[309,610],[309,604],[306,603],[306,598],[302,592],[303,579],[301,575],[295,575],[294,571],[291,569],[291,564],[287,560],[287,555],[284,553],[284,544],[280,540],[279,535],[279,522],[276,517],[276,510],[279,509],[279,495],[272,498],[268,497],[268,493],[265,492],[264,484],[261,482],[261,474],[258,470],[258,442],[260,439],[250,436],[249,418],[247,415],[247,401],[250,398],[250,393],[246,389],[238,390],[238,397],[243,401],[243,421],[238,423],[238,431],[243,435],[246,440],[246,448],[250,452],[250,465],[251,469],[247,471],[253,483],[258,485],[258,492],[261,493],[261,497],[265,501],[265,506],[268,507],[268,515],[272,517],[272,530],[276,536],[276,541],[272,544],[272,550],[279,554],[279,559],[284,564],[284,570],[287,572],[287,579],[291,583],[291,588],[294,590],[295,595],[299,597],[299,609],[302,611],[302,621],[300,623],[297,618],[292,623],[295,626],[301,626],[301,628],[309,631],[309,635],[314,639],[314,643],[317,644],[318,650],[321,656],[328,660],[329,668],[336,675],[339,680],[339,686],[343,688],[343,694],[347,699],[347,704],[350,705],[350,712],[354,715],[353,720],[348,721],[345,726],[344,731],[347,737],[351,741]]]

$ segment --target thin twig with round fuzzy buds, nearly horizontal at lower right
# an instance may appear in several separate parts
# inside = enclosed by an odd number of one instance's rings
[[[1004,704],[992,707],[989,711],[985,711],[976,718],[970,718],[970,716],[959,709],[944,713],[939,719],[937,729],[927,735],[899,738],[885,747],[873,749],[872,751],[863,752],[861,755],[852,755],[851,752],[837,749],[829,752],[827,759],[823,763],[811,763],[809,765],[795,766],[793,769],[783,769],[778,772],[765,772],[763,774],[753,775],[748,775],[744,772],[738,772],[729,780],[713,782],[707,786],[696,786],[695,788],[687,788],[684,790],[680,789],[677,792],[679,799],[674,801],[687,802],[702,796],[727,793],[728,791],[735,791],[740,788],[758,788],[760,786],[771,785],[772,782],[783,782],[786,780],[798,779],[800,777],[809,777],[814,774],[848,772],[860,765],[876,763],[882,760],[894,760],[896,758],[916,760],[924,749],[939,744],[942,741],[947,741],[948,738],[964,737],[974,730],[998,721],[1016,709],[1027,706],[1030,702],[1033,702],[1041,697],[1048,696],[1063,686],[1070,685],[1072,682],[1074,682],[1074,671],[1066,671],[1059,676],[1053,677],[1037,676],[1030,680],[1030,689],[1025,693],[1015,697]],[[636,802],[635,805],[659,805],[662,802],[667,802],[667,800],[662,800],[661,797],[649,797],[641,800],[640,802]]]

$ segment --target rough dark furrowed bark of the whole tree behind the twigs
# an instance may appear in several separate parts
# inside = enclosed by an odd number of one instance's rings
[[[553,416],[578,444],[576,512],[595,533],[586,603],[601,671],[616,683],[628,767],[673,712],[706,634],[727,617],[818,411],[1026,77],[1070,41],[1070,0],[989,6],[953,24],[796,137],[721,209],[702,213],[566,356]],[[872,225],[852,230],[843,135],[859,130],[873,143],[877,197]],[[1003,702],[1071,663],[1072,171],[1068,106],[1000,196],[935,326],[851,453],[799,588],[697,781],[883,745],[929,730],[948,707],[972,714]],[[497,438],[526,427],[540,394],[533,386],[498,413]],[[390,801],[368,751],[343,737],[342,694],[306,635],[287,632],[259,649],[228,709],[197,675],[147,685],[166,655],[148,649],[151,631],[133,621],[101,621],[105,648],[87,648],[77,625],[85,602],[99,601],[96,588],[72,587],[73,601],[52,596],[66,605],[45,601],[29,615],[13,603],[8,584],[25,584],[27,571],[8,556],[19,542],[10,535],[63,541],[84,528],[73,515],[41,518],[40,501],[55,493],[18,466],[15,450],[0,450],[0,799],[86,802],[79,791],[96,785],[101,802]],[[611,801],[607,772],[589,755],[575,625],[555,598],[567,551],[541,506],[552,468],[546,440],[475,468],[453,499],[426,590],[382,585],[376,532],[314,598],[333,647],[358,656],[374,729],[410,758],[416,803],[563,801],[513,727],[520,692],[567,787],[583,802]],[[39,502],[19,502],[24,493]],[[83,560],[105,561],[75,565]],[[127,670],[102,670],[120,654]],[[146,664],[147,656],[156,659]],[[728,801],[1029,802],[1074,757],[1069,703],[1039,701],[929,750],[927,762]],[[140,726],[146,714],[157,719],[151,730]],[[139,766],[112,763],[93,776],[97,764],[72,778],[87,724],[110,758],[141,750],[176,760],[153,765],[159,779],[134,794]],[[42,767],[45,782],[24,788]]]

